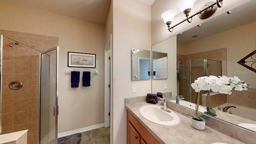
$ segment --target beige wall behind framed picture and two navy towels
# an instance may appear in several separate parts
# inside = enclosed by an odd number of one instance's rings
[[[58,132],[66,132],[104,122],[104,25],[53,14],[42,10],[0,2],[0,29],[55,36],[59,38]],[[67,52],[96,54],[96,68],[68,68]],[[93,71],[91,86],[71,88],[65,70]]]

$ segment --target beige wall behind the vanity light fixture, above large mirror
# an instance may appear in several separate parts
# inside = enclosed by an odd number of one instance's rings
[[[207,2],[209,2],[208,0]],[[249,0],[225,0],[223,3],[222,8],[218,8],[218,10],[215,12],[213,16],[211,16],[208,19],[214,18],[215,16],[218,16],[219,14],[222,14],[223,12],[226,12],[236,6],[239,6],[240,4],[243,4],[244,2],[247,2]],[[184,20],[186,17],[178,8],[176,8],[176,2],[177,0],[156,0],[154,4],[151,6],[151,44],[154,45],[158,42],[161,42],[167,38],[170,38],[172,36],[175,36],[176,34],[179,34],[180,32],[184,32],[202,22],[205,20],[200,20],[198,16],[193,17],[192,23],[184,22],[174,28],[174,32],[169,32],[167,30],[167,25],[164,24],[164,20],[161,18],[161,14],[170,9],[176,9],[178,14],[175,16],[174,21],[172,22],[171,26],[174,26],[175,24],[178,24],[180,21]],[[191,14],[195,14],[198,10],[204,6],[204,4],[207,3],[206,0],[198,0],[195,4],[193,9],[191,10]]]

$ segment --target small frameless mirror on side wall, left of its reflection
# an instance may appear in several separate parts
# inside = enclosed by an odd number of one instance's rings
[[[150,79],[150,50],[132,48],[132,80]]]

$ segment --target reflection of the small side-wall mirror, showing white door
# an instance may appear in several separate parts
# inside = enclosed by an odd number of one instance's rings
[[[167,53],[152,52],[153,59],[153,79],[168,78],[167,72]]]

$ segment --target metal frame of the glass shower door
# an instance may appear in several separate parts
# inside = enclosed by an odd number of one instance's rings
[[[41,131],[41,56],[42,54],[45,54],[47,52],[50,52],[52,50],[56,50],[56,99],[55,99],[55,106],[54,106],[54,116],[55,116],[55,144],[58,144],[58,64],[59,64],[59,46],[56,46],[54,48],[50,48],[49,50],[46,50],[44,52],[40,52],[39,54],[39,90],[38,90],[38,97],[39,97],[39,103],[38,103],[38,144],[40,144],[40,131]]]

